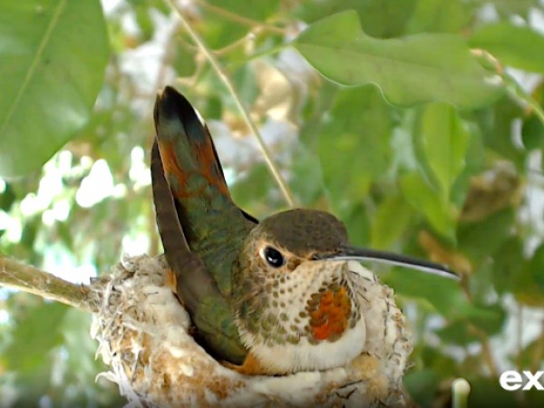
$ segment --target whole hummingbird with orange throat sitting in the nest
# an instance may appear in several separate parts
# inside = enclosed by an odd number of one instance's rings
[[[208,127],[180,92],[158,94],[154,121],[153,200],[175,291],[200,345],[239,373],[325,370],[360,355],[365,277],[354,261],[455,277],[430,261],[351,246],[326,211],[259,222],[231,198]]]

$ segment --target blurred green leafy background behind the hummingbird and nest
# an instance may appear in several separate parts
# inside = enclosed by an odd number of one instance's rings
[[[96,0],[0,5],[0,253],[74,281],[107,273],[123,248],[160,251],[147,163],[167,83],[209,121],[238,205],[257,217],[286,208],[168,3],[103,0],[102,11]],[[300,205],[335,213],[356,245],[461,274],[373,266],[413,329],[413,399],[449,406],[461,376],[471,406],[544,404],[498,382],[543,368],[542,3],[196,0],[182,12]],[[94,383],[105,366],[90,323],[0,289],[0,406],[121,405],[114,385]]]

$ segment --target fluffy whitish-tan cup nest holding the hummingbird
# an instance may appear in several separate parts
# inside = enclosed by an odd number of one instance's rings
[[[358,267],[360,267],[357,264]],[[402,378],[412,352],[393,290],[363,267],[364,353],[344,367],[287,376],[249,376],[219,364],[190,335],[188,313],[166,282],[161,258],[126,257],[93,285],[97,355],[130,406],[404,406]]]

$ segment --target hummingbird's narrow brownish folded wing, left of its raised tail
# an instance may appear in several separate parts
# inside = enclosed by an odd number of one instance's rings
[[[232,322],[232,312],[204,262],[189,249],[156,141],[151,150],[151,182],[164,255],[176,276],[178,296],[212,354],[241,364],[246,351]]]

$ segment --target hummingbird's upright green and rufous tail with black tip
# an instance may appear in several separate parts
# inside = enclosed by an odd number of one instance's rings
[[[189,101],[167,86],[157,96],[154,117],[156,156],[180,228],[190,250],[208,267],[222,296],[228,297],[230,270],[257,220],[230,198],[208,128]]]

